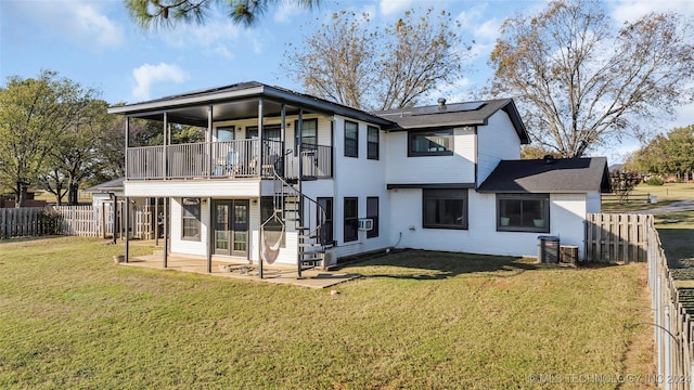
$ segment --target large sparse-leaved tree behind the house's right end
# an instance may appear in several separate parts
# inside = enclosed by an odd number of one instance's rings
[[[491,54],[493,92],[517,96],[534,141],[566,157],[642,138],[691,99],[691,20],[650,13],[617,30],[602,6],[552,1],[507,18]]]

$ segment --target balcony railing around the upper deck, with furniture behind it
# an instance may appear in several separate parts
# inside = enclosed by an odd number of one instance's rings
[[[273,171],[286,179],[332,178],[333,148],[301,144],[294,151],[258,139],[127,148],[128,180],[269,179]]]

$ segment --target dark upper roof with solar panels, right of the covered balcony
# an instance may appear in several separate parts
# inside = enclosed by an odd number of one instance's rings
[[[387,109],[373,114],[396,123],[388,130],[425,129],[450,126],[486,126],[499,110],[509,115],[522,144],[529,143],[528,133],[512,99],[440,104]]]

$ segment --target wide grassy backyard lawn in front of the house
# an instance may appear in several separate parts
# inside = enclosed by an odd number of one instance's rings
[[[0,388],[562,389],[654,372],[653,328],[635,325],[653,322],[645,264],[410,250],[343,269],[362,277],[332,296],[115,265],[121,252],[0,243]]]

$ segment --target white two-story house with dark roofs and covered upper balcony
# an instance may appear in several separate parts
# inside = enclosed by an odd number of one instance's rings
[[[604,158],[519,160],[512,100],[380,113],[259,82],[114,106],[126,120],[126,197],[164,198],[166,253],[297,265],[387,248],[536,256],[581,245],[607,191]],[[132,120],[162,128],[130,146]],[[205,141],[172,144],[174,125]],[[127,252],[127,250],[126,250]],[[126,253],[127,257],[127,253]]]

